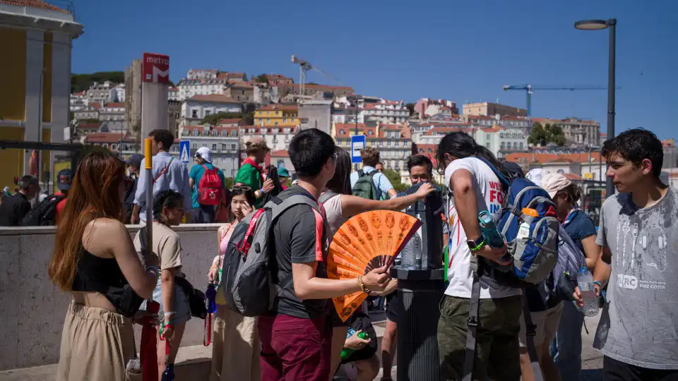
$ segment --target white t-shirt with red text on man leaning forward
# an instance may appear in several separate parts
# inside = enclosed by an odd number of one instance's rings
[[[450,189],[452,189],[450,184],[452,174],[459,169],[465,169],[473,176],[473,191],[477,195],[479,213],[487,210],[494,214],[501,209],[501,202],[504,201],[505,193],[501,189],[499,179],[487,164],[476,157],[465,157],[451,162],[445,169],[445,183],[448,184]],[[468,238],[466,238],[464,228],[457,217],[457,210],[454,207],[454,198],[452,197],[448,201],[447,219],[450,226],[450,262],[448,263],[450,284],[445,294],[459,298],[470,298],[473,283],[473,274],[470,267],[471,251],[466,243]],[[476,239],[477,237],[472,238]],[[480,277],[481,299],[505,298],[514,295],[521,295],[521,290],[496,284],[489,277]]]

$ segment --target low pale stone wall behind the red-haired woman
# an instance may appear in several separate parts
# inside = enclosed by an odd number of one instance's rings
[[[186,279],[206,289],[207,272],[217,254],[218,224],[182,225]],[[138,226],[129,226],[136,234]],[[59,361],[61,329],[69,296],[47,276],[54,250],[54,227],[0,229],[0,370],[47,365]],[[187,323],[182,346],[202,344],[203,320]],[[141,326],[136,329],[141,338]]]

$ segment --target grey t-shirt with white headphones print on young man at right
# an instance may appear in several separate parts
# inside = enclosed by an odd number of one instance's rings
[[[678,190],[638,209],[631,194],[602,205],[596,243],[612,252],[594,346],[642,368],[678,369]]]

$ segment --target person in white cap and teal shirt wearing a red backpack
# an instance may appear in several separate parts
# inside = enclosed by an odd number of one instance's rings
[[[194,157],[196,165],[189,173],[189,186],[193,190],[194,224],[212,224],[215,207],[221,205],[226,180],[221,169],[212,164],[212,150],[200,147]]]

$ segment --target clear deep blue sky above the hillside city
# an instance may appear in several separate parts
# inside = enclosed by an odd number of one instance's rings
[[[85,25],[74,73],[121,71],[154,52],[169,55],[174,81],[189,68],[297,81],[297,54],[362,95],[459,107],[525,107],[525,92],[503,85],[607,86],[607,31],[573,23],[617,18],[617,132],[678,138],[678,1],[73,1]],[[308,80],[339,84],[313,72]],[[593,118],[603,131],[606,107],[605,90],[533,95],[533,116]]]

